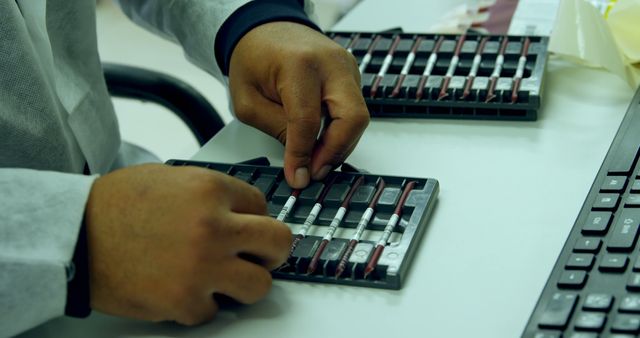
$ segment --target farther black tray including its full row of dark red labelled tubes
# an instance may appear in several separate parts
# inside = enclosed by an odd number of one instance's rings
[[[536,119],[548,38],[332,32],[374,117]]]

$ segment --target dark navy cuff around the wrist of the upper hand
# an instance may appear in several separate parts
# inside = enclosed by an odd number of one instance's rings
[[[238,8],[222,24],[215,41],[216,61],[222,74],[229,75],[231,53],[238,41],[251,29],[274,21],[296,22],[322,30],[304,12],[304,1],[254,0]],[[286,38],[286,37],[283,37]]]

